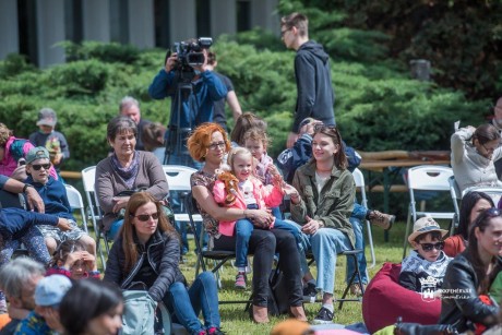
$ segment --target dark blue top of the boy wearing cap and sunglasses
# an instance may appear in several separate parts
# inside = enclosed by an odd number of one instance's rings
[[[28,176],[25,182],[33,184],[38,194],[40,194],[47,214],[75,220],[70,203],[68,202],[67,189],[61,181],[49,176],[47,183],[43,184],[33,180],[32,176]]]

